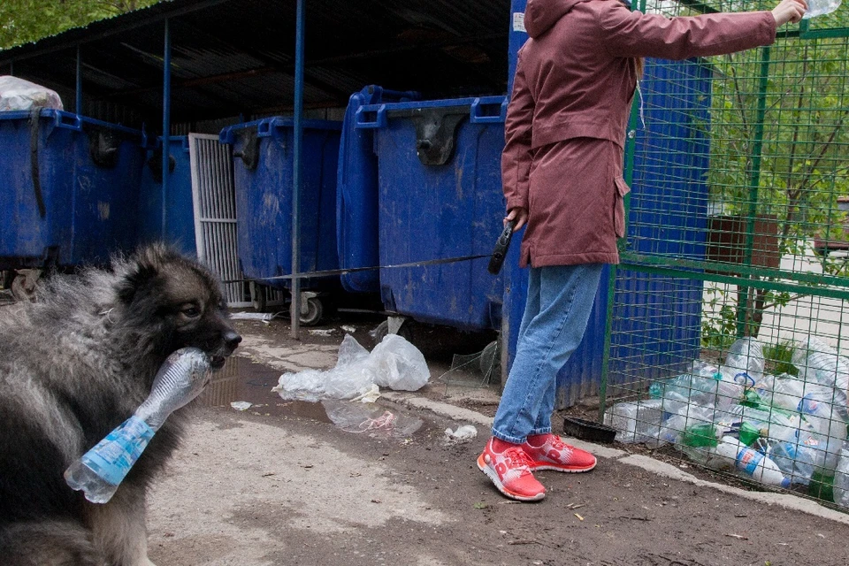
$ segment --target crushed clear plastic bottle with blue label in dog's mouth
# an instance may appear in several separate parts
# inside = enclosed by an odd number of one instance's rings
[[[109,501],[165,419],[195,399],[210,379],[210,361],[202,350],[181,348],[168,356],[133,416],[65,470],[68,486],[92,503]]]

